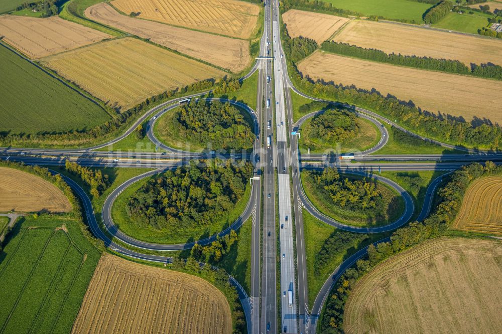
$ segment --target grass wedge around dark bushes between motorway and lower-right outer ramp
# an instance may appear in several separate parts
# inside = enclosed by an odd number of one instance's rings
[[[311,214],[309,214],[305,209],[303,209],[303,227],[305,235],[305,255],[307,258],[307,284],[308,284],[308,294],[309,294],[309,305],[314,304],[314,300],[319,293],[322,285],[329,277],[329,275],[336,269],[346,258],[354,254],[357,250],[365,247],[371,242],[385,238],[390,233],[376,233],[369,235],[369,238],[363,240],[362,242],[351,242],[344,245],[343,250],[331,254],[329,261],[326,265],[320,268],[320,273],[314,273],[314,263],[316,260],[316,255],[321,251],[322,246],[325,241],[333,234],[336,233],[337,229],[321,222]]]

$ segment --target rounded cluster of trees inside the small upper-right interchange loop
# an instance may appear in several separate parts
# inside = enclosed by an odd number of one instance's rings
[[[345,141],[359,133],[355,115],[344,110],[328,110],[312,119],[309,125],[311,137],[326,141]]]

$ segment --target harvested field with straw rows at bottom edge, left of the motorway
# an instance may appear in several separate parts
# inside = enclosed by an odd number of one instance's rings
[[[104,254],[73,333],[230,333],[228,302],[207,281]]]

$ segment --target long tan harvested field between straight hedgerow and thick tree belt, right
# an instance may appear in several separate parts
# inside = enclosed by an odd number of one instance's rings
[[[502,124],[502,113],[494,107],[500,100],[502,81],[419,70],[402,66],[315,52],[298,69],[314,80],[324,79],[357,88],[378,90],[400,100],[413,101],[423,110],[437,114],[474,116]]]

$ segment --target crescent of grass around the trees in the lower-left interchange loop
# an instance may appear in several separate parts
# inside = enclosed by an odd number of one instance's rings
[[[127,212],[126,206],[129,198],[138,191],[149,178],[138,181],[125,189],[116,198],[111,210],[111,217],[115,225],[123,233],[136,238],[138,240],[160,243],[160,244],[177,244],[190,241],[196,241],[202,238],[209,237],[213,234],[221,232],[224,228],[232,224],[244,211],[249,196],[251,194],[251,186],[247,185],[242,199],[237,202],[235,207],[230,212],[215,213],[214,220],[206,226],[196,227],[192,230],[166,231],[158,230],[152,227],[143,227],[131,221]]]

